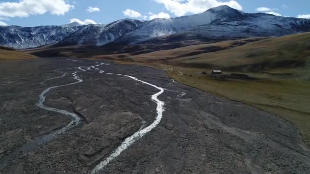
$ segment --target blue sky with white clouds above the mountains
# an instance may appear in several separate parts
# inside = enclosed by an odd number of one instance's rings
[[[310,18],[310,0],[1,0],[0,25],[108,24],[197,14],[220,5],[245,13]]]

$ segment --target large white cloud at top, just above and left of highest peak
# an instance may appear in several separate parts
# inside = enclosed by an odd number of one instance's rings
[[[210,8],[227,5],[231,8],[242,10],[242,6],[236,1],[220,2],[218,0],[154,0],[164,4],[165,8],[176,16],[187,13],[202,13]]]

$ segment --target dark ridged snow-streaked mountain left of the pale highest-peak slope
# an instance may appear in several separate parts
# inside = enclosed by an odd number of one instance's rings
[[[81,30],[74,32],[65,40],[59,42],[57,45],[104,45],[128,32],[131,32],[141,23],[142,21],[136,19],[121,19],[108,25],[86,25]]]

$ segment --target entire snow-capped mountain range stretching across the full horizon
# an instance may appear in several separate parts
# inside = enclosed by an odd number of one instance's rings
[[[107,25],[0,26],[0,45],[27,49],[107,43],[136,44],[156,40],[208,40],[272,37],[310,31],[310,19],[248,14],[219,6],[203,13],[170,19],[122,19]]]

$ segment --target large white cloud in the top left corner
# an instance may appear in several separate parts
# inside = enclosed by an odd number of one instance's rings
[[[53,15],[64,15],[73,5],[65,0],[21,0],[18,3],[0,3],[0,16],[3,17],[28,17],[49,12]]]

